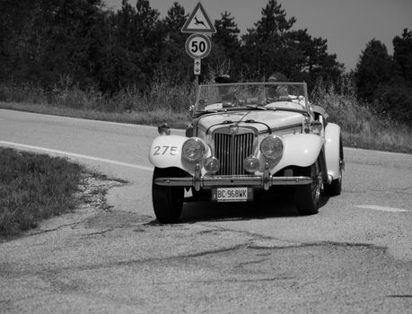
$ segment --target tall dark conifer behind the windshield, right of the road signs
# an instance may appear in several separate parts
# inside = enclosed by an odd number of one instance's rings
[[[276,0],[269,0],[255,28],[242,37],[242,64],[252,79],[264,79],[274,72],[289,79],[306,81],[309,87],[321,78],[337,82],[343,65],[328,54],[326,39],[312,38],[307,30],[292,30],[296,19],[287,19]]]

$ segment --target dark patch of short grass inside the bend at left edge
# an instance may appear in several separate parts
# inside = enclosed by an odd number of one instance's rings
[[[18,235],[75,209],[83,172],[64,158],[0,147],[0,236]]]

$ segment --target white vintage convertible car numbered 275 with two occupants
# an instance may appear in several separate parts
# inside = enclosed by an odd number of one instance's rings
[[[340,194],[340,127],[311,105],[306,83],[199,85],[191,111],[186,136],[159,126],[150,148],[159,222],[178,222],[187,201],[246,202],[293,186],[304,215],[318,213],[322,193]]]

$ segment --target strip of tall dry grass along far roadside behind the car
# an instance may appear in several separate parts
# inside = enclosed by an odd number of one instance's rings
[[[337,92],[333,85],[320,84],[310,99],[327,110],[329,121],[341,126],[345,146],[412,153],[411,126],[396,121],[389,114],[373,113],[356,99],[353,88],[341,91],[346,93]],[[0,108],[4,109],[150,126],[166,122],[172,127],[185,128],[190,122],[188,106],[195,100],[195,87],[173,87],[164,82],[156,84],[152,92],[145,95],[127,91],[110,98],[79,89],[64,88],[50,95],[41,89],[11,89],[0,85],[0,95],[6,101],[0,102]]]

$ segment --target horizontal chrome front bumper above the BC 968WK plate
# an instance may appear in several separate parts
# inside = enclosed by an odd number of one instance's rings
[[[311,184],[311,177],[272,177],[268,168],[262,175],[250,176],[202,176],[197,167],[195,175],[191,178],[157,178],[154,183],[159,186],[192,187],[199,191],[200,188],[213,187],[250,187],[268,190],[272,186],[296,186]]]

